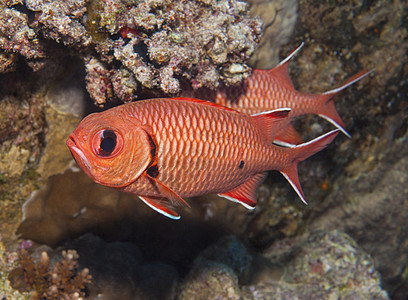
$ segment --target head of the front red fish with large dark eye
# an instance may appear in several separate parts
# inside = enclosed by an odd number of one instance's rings
[[[107,110],[85,117],[67,140],[75,161],[95,182],[125,187],[152,161],[151,143],[143,127]]]

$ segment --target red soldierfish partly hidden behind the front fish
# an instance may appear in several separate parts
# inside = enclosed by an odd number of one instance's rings
[[[289,118],[282,124],[276,136],[276,141],[284,144],[303,142],[296,130],[290,125],[290,121],[292,118],[304,114],[319,115],[350,137],[344,129],[344,123],[336,111],[332,97],[372,71],[361,71],[340,87],[323,94],[301,93],[293,86],[288,73],[288,64],[302,46],[303,43],[271,70],[254,69],[251,76],[243,80],[238,86],[222,87],[217,90],[200,88],[193,91],[187,89],[183,95],[214,101],[247,114],[284,107],[291,108]]]

